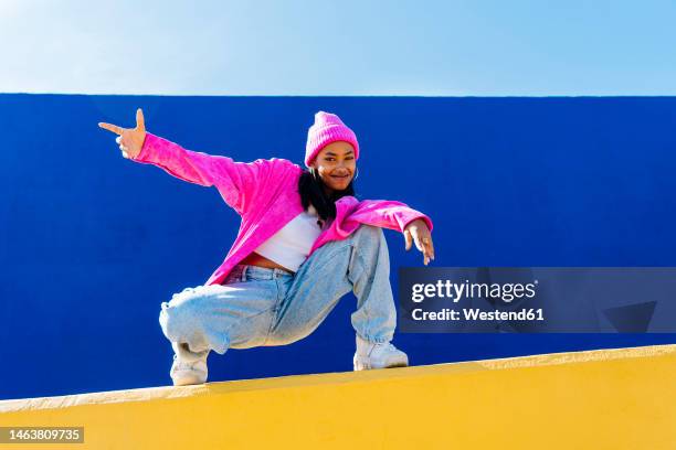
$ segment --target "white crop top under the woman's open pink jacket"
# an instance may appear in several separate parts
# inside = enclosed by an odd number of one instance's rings
[[[309,205],[254,251],[295,272],[321,233],[318,219],[317,210]]]

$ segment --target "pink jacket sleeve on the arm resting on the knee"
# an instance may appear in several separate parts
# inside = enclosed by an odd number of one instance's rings
[[[422,218],[430,232],[432,232],[432,219],[420,211],[409,207],[405,203],[391,200],[363,200],[357,211],[350,215],[351,219],[382,228],[404,232],[411,222]]]

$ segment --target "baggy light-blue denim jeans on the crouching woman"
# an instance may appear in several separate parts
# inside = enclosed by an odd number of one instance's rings
[[[186,288],[162,302],[159,322],[175,351],[190,361],[209,351],[299,341],[350,291],[357,297],[351,314],[357,334],[369,342],[391,341],[397,308],[380,227],[362,224],[348,238],[323,245],[293,275],[237,265],[223,285]]]

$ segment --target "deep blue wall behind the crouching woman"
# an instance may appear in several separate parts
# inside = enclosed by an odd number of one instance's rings
[[[434,221],[435,266],[676,266],[676,98],[0,95],[0,398],[169,385],[160,302],[203,283],[239,216],[213,188],[123,159],[150,132],[302,163],[314,114],[362,154],[358,193]],[[392,282],[421,266],[385,232]],[[397,291],[397,289],[394,289]],[[309,338],[212,353],[210,381],[351,369],[346,297]],[[674,343],[674,334],[403,334],[414,365]]]

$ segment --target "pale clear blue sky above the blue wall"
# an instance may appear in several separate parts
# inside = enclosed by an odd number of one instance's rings
[[[0,0],[0,92],[676,95],[676,2]]]

